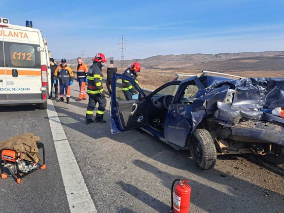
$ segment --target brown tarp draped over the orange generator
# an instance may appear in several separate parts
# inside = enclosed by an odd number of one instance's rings
[[[37,141],[41,141],[39,136],[34,136],[33,133],[25,133],[10,137],[0,142],[0,150],[14,150],[21,153],[20,158],[38,163],[42,161],[39,156]]]

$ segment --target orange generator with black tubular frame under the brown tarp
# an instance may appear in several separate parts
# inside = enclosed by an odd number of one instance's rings
[[[43,149],[43,164],[35,163],[32,161],[27,161],[20,159],[21,153],[18,153],[13,150],[0,150],[1,155],[1,177],[5,179],[8,176],[16,176],[17,175],[17,183],[21,183],[21,179],[30,174],[31,172],[38,169],[45,169],[45,149],[44,144],[41,142],[37,142],[38,149]],[[4,173],[4,168],[8,168],[10,174]]]

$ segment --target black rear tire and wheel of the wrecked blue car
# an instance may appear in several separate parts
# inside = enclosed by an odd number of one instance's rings
[[[216,148],[206,129],[196,129],[193,132],[189,148],[192,159],[200,169],[214,168],[217,160]]]

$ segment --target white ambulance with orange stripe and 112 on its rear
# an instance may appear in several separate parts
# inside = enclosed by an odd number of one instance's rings
[[[47,109],[50,63],[39,29],[12,25],[0,18],[0,112],[2,105],[37,104]]]

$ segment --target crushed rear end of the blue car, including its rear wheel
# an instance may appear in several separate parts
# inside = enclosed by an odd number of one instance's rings
[[[284,119],[271,114],[284,107],[284,79],[205,75],[199,80],[204,92],[193,101],[193,129],[208,131],[216,149],[202,135],[193,135],[190,152],[201,169],[214,167],[215,152],[255,153],[267,162],[284,163]]]

